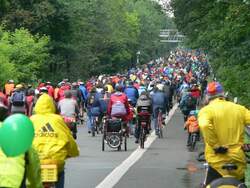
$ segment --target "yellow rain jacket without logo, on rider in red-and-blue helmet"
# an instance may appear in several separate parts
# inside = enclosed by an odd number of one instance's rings
[[[198,114],[200,130],[205,140],[205,157],[208,164],[221,175],[229,175],[222,170],[225,163],[234,163],[238,169],[230,175],[237,179],[244,178],[246,168],[245,154],[241,149],[244,144],[244,129],[250,124],[250,111],[245,107],[214,99]],[[214,148],[227,147],[226,154],[215,154]]]

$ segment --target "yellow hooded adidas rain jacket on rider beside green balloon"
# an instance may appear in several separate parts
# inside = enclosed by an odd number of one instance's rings
[[[34,111],[35,115],[30,118],[35,128],[33,146],[40,160],[57,161],[61,172],[67,158],[79,155],[77,144],[63,118],[55,114],[55,105],[49,95],[39,97]]]

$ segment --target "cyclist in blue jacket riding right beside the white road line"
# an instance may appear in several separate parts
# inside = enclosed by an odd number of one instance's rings
[[[153,106],[153,119],[154,119],[154,128],[155,128],[155,134],[159,134],[159,129],[157,125],[157,117],[159,110],[162,110],[162,114],[166,114],[166,112],[169,111],[169,104],[168,104],[168,98],[166,94],[163,91],[163,86],[160,88],[155,87],[154,93],[151,96],[152,98],[152,106]]]

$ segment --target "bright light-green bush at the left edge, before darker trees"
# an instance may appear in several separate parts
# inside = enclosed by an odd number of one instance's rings
[[[8,32],[0,27],[0,82],[39,78],[41,69],[46,66],[48,42],[48,37],[33,36],[25,29]]]

